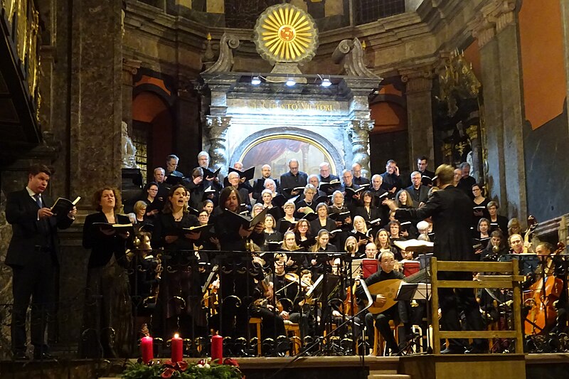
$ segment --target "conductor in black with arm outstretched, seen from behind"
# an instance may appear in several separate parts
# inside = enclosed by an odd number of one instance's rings
[[[391,210],[395,210],[398,220],[432,218],[432,231],[435,238],[434,253],[437,260],[474,261],[472,248],[472,201],[459,188],[452,185],[454,178],[452,166],[442,164],[435,171],[440,191],[421,208],[398,209],[395,202],[384,201]],[[445,274],[444,276],[442,274]],[[469,272],[442,272],[439,279],[472,280]],[[474,299],[472,289],[439,289],[439,304],[442,312],[441,325],[443,330],[461,330],[459,314],[464,311],[467,318],[467,330],[482,330],[484,325],[480,316],[479,305]],[[467,352],[483,353],[487,345],[481,339],[475,339],[474,345]],[[442,353],[464,353],[464,346],[456,339],[451,339],[449,346]]]

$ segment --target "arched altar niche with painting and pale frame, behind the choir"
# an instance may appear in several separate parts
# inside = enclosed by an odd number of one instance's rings
[[[230,166],[243,162],[245,169],[255,166],[255,177],[260,177],[261,166],[270,164],[272,176],[287,172],[289,159],[299,161],[299,170],[319,174],[319,164],[327,161],[332,174],[344,169],[340,152],[321,135],[298,128],[270,128],[251,134],[243,140],[230,157]]]

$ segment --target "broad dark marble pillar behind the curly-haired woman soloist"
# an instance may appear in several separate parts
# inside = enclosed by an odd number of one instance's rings
[[[70,193],[87,199],[121,186],[122,8],[84,0],[70,11]]]

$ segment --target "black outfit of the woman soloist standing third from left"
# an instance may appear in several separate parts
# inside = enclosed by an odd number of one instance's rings
[[[181,232],[182,228],[200,225],[198,219],[184,213],[181,220],[176,221],[172,213],[163,213],[157,221],[151,245],[154,249],[164,247],[162,265],[171,269],[164,269],[162,273],[152,322],[154,333],[164,339],[176,331],[184,338],[206,336],[207,321],[201,305],[198,267],[207,263],[207,255],[194,252],[193,245],[199,245],[200,240],[189,240]],[[178,238],[168,243],[168,235],[178,235]]]

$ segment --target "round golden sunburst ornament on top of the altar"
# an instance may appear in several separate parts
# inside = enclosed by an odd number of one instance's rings
[[[312,17],[290,4],[271,6],[257,18],[255,44],[260,55],[275,62],[312,59],[318,30]]]

